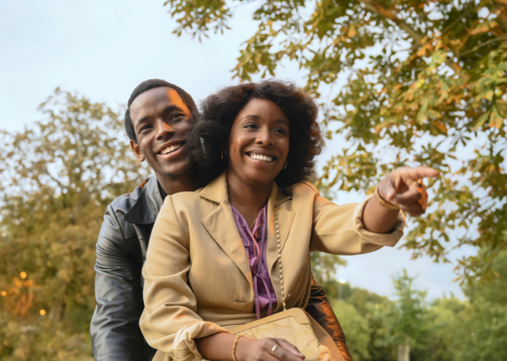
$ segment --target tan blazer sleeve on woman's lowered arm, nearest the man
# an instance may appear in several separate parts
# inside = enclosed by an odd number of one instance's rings
[[[140,327],[152,347],[174,360],[193,353],[200,361],[203,357],[194,339],[229,331],[204,322],[196,313],[197,300],[188,284],[191,263],[186,230],[177,218],[171,196],[167,196],[153,226],[142,269],[144,311]]]

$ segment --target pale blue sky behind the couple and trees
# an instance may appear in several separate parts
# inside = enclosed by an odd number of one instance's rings
[[[94,102],[125,104],[132,90],[149,78],[176,84],[196,101],[220,87],[237,84],[231,70],[241,44],[255,31],[251,20],[255,2],[234,9],[231,30],[199,43],[172,34],[176,23],[164,0],[70,2],[47,0],[0,1],[0,129],[22,131],[42,119],[37,107],[56,87],[76,91]],[[296,64],[287,63],[276,76],[303,85]],[[327,145],[319,163],[331,155],[337,141]],[[339,204],[360,202],[363,195],[340,192]],[[403,243],[403,240],[400,244]],[[338,276],[353,287],[392,296],[392,278],[406,268],[417,276],[415,287],[428,300],[463,294],[452,280],[454,260],[470,249],[452,250],[447,264],[429,257],[411,260],[410,251],[383,248],[347,256]]]

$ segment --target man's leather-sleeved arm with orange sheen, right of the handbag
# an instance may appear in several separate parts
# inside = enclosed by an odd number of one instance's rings
[[[350,356],[347,344],[345,343],[345,334],[338,322],[338,318],[336,318],[328,298],[325,297],[324,290],[313,279],[313,274],[310,299],[305,311],[333,338],[345,361],[352,361],[352,356]]]

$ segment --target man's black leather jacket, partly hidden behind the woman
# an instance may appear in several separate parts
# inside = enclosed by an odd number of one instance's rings
[[[150,177],[107,207],[97,241],[97,307],[90,325],[96,361],[151,361],[155,354],[139,328],[144,309],[141,269],[164,198],[157,178]],[[333,337],[345,360],[352,360],[338,319],[315,282],[306,311]]]

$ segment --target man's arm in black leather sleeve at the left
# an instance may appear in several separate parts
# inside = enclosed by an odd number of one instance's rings
[[[90,325],[96,361],[144,359],[144,338],[139,329],[144,307],[141,267],[125,242],[113,208],[108,206],[97,241],[97,307]]]

